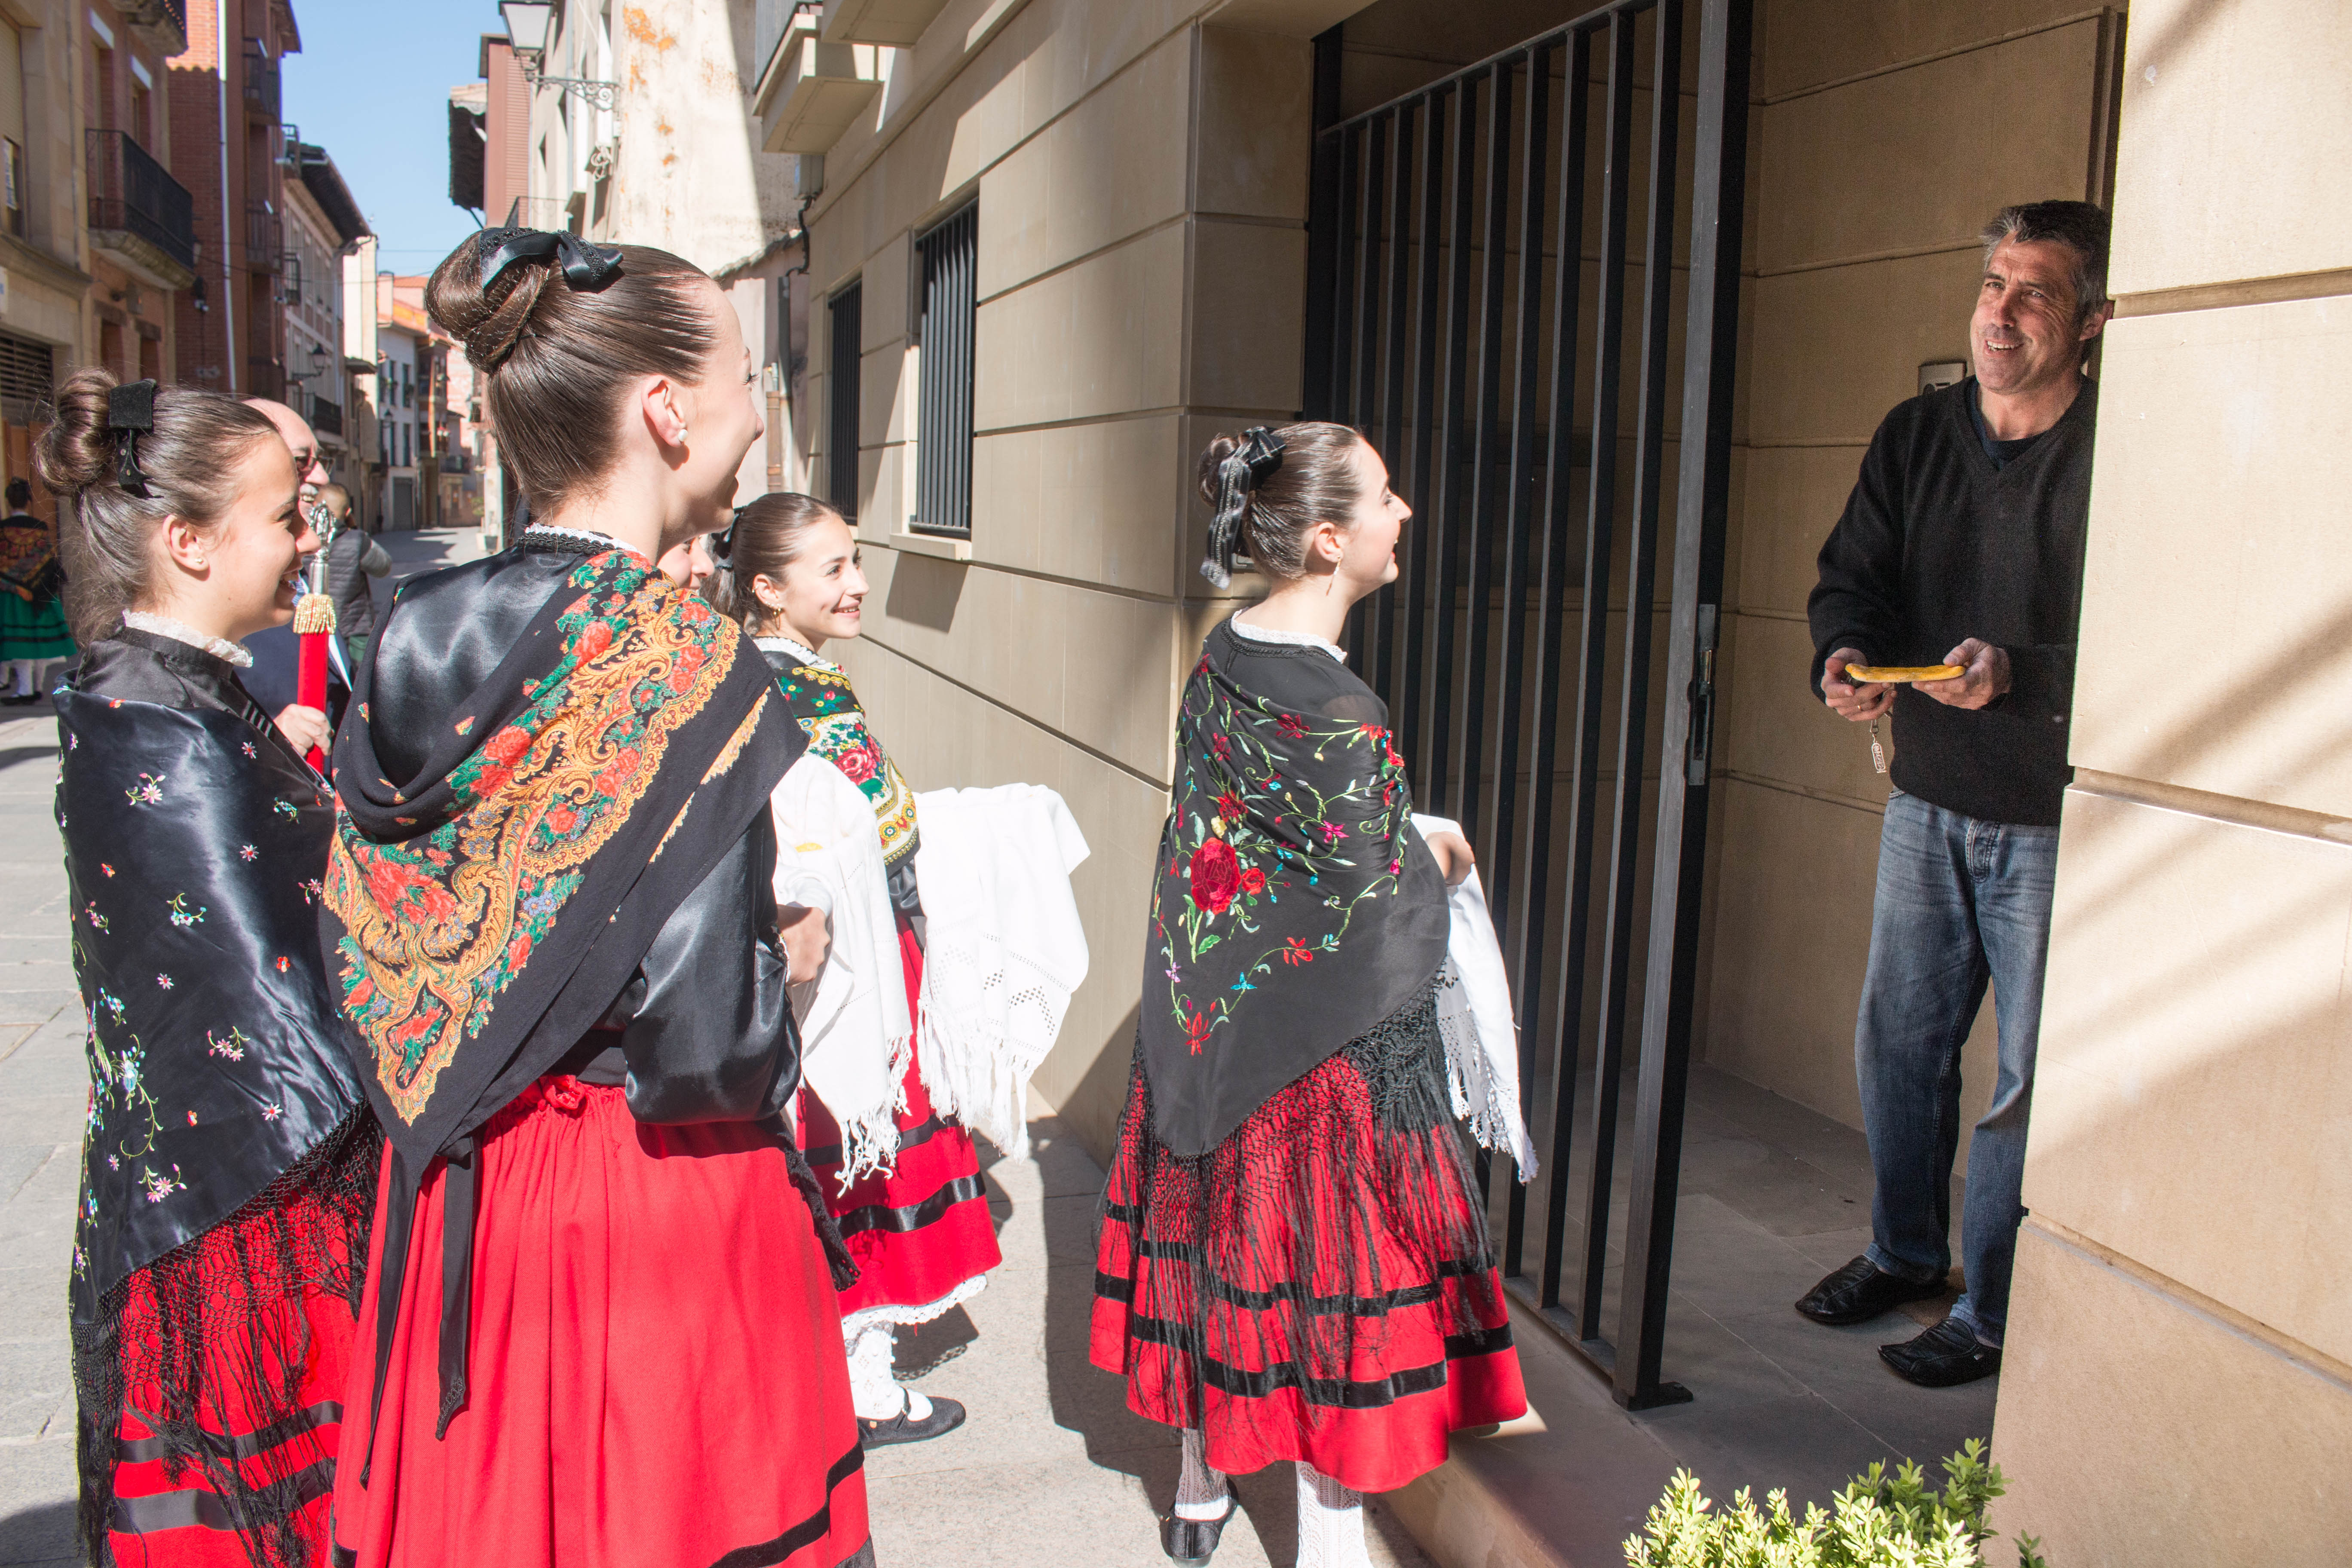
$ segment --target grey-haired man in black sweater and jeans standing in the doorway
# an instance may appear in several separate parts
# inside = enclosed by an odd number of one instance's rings
[[[1987,983],[1999,1023],[1992,1110],[1969,1145],[1966,1288],[1943,1324],[1879,1349],[1926,1387],[2002,1366],[2098,418],[2082,364],[2114,310],[2098,207],[2009,207],[1983,240],[1976,376],[1879,423],[1806,604],[1813,689],[1872,738],[1891,710],[1896,762],[1853,1030],[1872,1244],[1797,1312],[1860,1324],[1943,1293],[1959,1048]],[[1849,665],[1959,675],[1875,684]]]

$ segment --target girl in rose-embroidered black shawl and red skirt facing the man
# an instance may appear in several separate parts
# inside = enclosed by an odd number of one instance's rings
[[[1526,1408],[1439,1037],[1470,846],[1416,830],[1336,644],[1411,515],[1378,454],[1249,430],[1211,442],[1202,491],[1202,574],[1230,583],[1240,545],[1275,585],[1183,689],[1091,1354],[1183,1432],[1171,1559],[1209,1561],[1228,1474],[1291,1460],[1298,1563],[1362,1568],[1362,1493]]]

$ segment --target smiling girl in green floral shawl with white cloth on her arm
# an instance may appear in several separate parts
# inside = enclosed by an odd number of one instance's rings
[[[729,607],[757,637],[809,750],[776,788],[776,896],[826,907],[833,947],[802,999],[809,1032],[800,1147],[858,1281],[842,1291],[868,1448],[953,1432],[964,1406],[891,1375],[896,1333],[988,1284],[997,1251],[971,1133],[934,1110],[917,1063],[924,961],[915,792],[821,649],[858,635],[866,574],[849,524],[811,496],[760,496],[727,538]]]

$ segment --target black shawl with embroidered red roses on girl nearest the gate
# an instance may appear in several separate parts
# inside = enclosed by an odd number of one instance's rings
[[[1152,1135],[1190,1159],[1428,990],[1446,889],[1388,710],[1327,651],[1218,625],[1176,752],[1141,1051]]]

